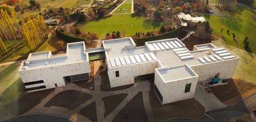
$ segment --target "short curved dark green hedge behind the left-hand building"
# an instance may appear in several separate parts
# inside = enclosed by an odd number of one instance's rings
[[[56,35],[60,37],[61,39],[67,41],[68,43],[74,43],[77,41],[84,41],[85,39],[82,37],[75,37],[65,34],[64,32],[61,32],[60,30],[56,30]]]

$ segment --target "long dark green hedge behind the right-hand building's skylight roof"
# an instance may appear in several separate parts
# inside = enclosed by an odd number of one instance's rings
[[[150,37],[141,37],[136,39],[137,46],[144,46],[145,42],[147,41],[156,41],[160,39],[170,39],[178,37],[181,32],[184,31],[183,27],[179,27],[178,29],[172,30],[170,32],[165,32],[164,34],[159,34],[157,36],[150,36]]]

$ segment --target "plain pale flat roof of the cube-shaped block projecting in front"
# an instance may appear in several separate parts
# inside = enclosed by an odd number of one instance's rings
[[[157,69],[164,82],[176,81],[178,79],[191,78],[197,76],[187,65],[172,68]]]

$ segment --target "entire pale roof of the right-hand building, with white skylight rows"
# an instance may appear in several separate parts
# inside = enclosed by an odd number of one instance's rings
[[[177,38],[148,41],[145,46],[136,47],[131,37],[103,41],[106,60],[110,67],[159,61],[157,70],[164,81],[175,81],[197,76],[189,66],[203,65],[238,58],[223,47],[200,44],[198,50],[189,51]],[[161,69],[166,67],[164,69]]]

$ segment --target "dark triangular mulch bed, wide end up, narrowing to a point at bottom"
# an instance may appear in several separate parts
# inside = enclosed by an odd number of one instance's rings
[[[102,98],[104,105],[105,105],[105,110],[106,114],[104,114],[105,118],[108,116],[114,109],[127,97],[127,93],[120,93],[117,95],[112,95],[108,97]]]

